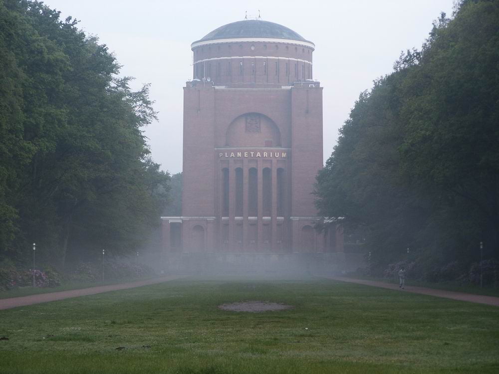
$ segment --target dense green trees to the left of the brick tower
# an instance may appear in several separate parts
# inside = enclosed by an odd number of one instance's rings
[[[33,241],[62,264],[126,254],[157,224],[169,175],[141,130],[156,113],[119,68],[72,18],[0,0],[0,258]]]

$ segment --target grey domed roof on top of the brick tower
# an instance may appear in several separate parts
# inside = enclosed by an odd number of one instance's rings
[[[206,34],[202,39],[195,41],[193,44],[209,40],[230,38],[277,38],[311,43],[297,32],[278,23],[259,19],[245,19],[243,21],[223,25]]]

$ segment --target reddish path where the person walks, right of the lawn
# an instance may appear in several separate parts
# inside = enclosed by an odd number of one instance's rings
[[[339,280],[348,283],[364,284],[366,286],[388,288],[390,290],[400,290],[401,292],[413,292],[417,294],[445,297],[447,299],[470,301],[472,303],[494,305],[496,307],[499,307],[499,297],[494,297],[494,296],[475,295],[475,294],[468,294],[465,292],[445,291],[445,290],[437,290],[434,288],[415,287],[415,286],[405,286],[405,289],[401,290],[398,284],[394,283],[385,283],[385,282],[354,279],[354,278],[339,277],[339,276],[325,276],[324,278]]]

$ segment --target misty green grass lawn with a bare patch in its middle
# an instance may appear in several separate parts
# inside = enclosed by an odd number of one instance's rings
[[[217,308],[244,300],[293,308]],[[313,278],[176,280],[20,307],[0,311],[0,336],[9,374],[499,372],[499,308]]]

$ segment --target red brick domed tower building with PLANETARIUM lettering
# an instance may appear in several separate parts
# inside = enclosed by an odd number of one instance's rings
[[[323,157],[314,47],[262,20],[226,24],[191,44],[182,216],[162,217],[169,263],[200,252],[204,261],[231,262],[236,254],[243,263],[254,254],[278,261],[343,252],[339,228],[319,234],[313,227],[321,219],[312,191]]]

